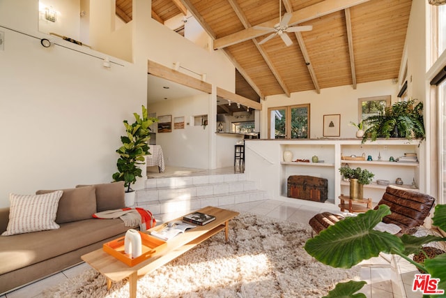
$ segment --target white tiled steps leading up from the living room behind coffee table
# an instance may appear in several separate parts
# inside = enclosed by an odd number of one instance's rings
[[[153,214],[187,213],[209,205],[225,206],[266,200],[267,193],[256,189],[245,174],[216,174],[194,177],[148,179],[138,190],[136,207]]]

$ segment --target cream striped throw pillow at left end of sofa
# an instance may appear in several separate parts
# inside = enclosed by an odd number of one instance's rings
[[[9,195],[10,209],[6,232],[2,236],[59,229],[54,222],[62,191],[44,195]]]

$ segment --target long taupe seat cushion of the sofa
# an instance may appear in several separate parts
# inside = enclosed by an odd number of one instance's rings
[[[119,218],[93,218],[60,226],[59,230],[0,237],[0,275],[116,237],[129,228],[138,229],[126,227]]]

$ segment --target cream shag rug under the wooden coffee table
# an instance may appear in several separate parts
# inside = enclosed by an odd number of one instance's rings
[[[309,225],[242,213],[230,221],[229,241],[215,234],[167,265],[139,278],[137,297],[322,297],[359,269],[334,269],[303,249]],[[128,281],[114,283],[89,269],[45,297],[128,297]]]

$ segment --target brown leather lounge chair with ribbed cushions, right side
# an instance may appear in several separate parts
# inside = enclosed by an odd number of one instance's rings
[[[378,206],[386,204],[392,211],[392,214],[384,216],[384,223],[394,223],[401,228],[401,232],[405,232],[408,228],[423,225],[434,202],[435,198],[430,195],[397,186],[387,186]]]

